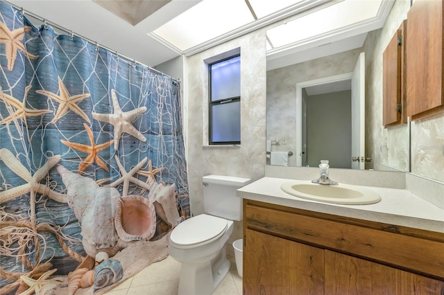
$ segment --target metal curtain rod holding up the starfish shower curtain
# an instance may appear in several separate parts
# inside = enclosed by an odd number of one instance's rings
[[[171,78],[171,79],[173,79],[174,81],[180,83],[180,79],[173,78],[173,77],[171,77],[170,75],[167,75],[166,73],[162,73],[161,71],[152,68],[151,66],[147,66],[146,64],[142,64],[142,62],[137,62],[137,60],[135,60],[135,59],[133,59],[133,58],[130,58],[130,57],[126,56],[126,55],[123,55],[123,54],[121,54],[121,53],[118,53],[117,51],[112,50],[111,48],[109,48],[109,47],[107,47],[107,46],[103,46],[102,44],[99,44],[98,42],[95,42],[95,41],[93,41],[92,39],[89,39],[89,38],[87,38],[87,37],[84,37],[84,36],[82,36],[82,35],[79,35],[79,34],[77,34],[77,33],[74,33],[72,30],[68,30],[67,28],[64,28],[64,27],[62,27],[62,26],[59,26],[58,24],[53,23],[52,21],[49,21],[48,19],[45,19],[45,18],[43,18],[43,17],[40,17],[40,15],[35,15],[33,12],[28,12],[28,11],[24,10],[22,7],[19,7],[19,6],[15,5],[14,3],[10,3],[10,2],[8,2],[8,1],[6,1],[6,0],[1,0],[1,1],[7,3],[9,6],[12,6],[12,8],[15,8],[16,10],[19,10],[20,13],[22,13],[22,15],[29,15],[30,17],[33,17],[33,18],[37,19],[38,21],[42,21],[43,24],[45,24],[45,25],[50,25],[50,26],[52,26],[53,28],[57,28],[58,30],[62,30],[62,31],[64,31],[65,33],[69,33],[69,35],[71,35],[71,37],[73,37],[73,36],[77,36],[77,37],[80,37],[80,38],[82,38],[82,39],[85,39],[87,42],[89,42],[90,44],[93,44],[94,46],[97,46],[97,47],[103,48],[103,49],[105,49],[105,50],[107,50],[107,51],[110,51],[111,53],[114,53],[115,55],[117,55],[117,57],[121,57],[121,58],[123,58],[124,60],[127,60],[128,62],[134,62],[134,63],[140,64],[140,65],[142,65],[142,66],[146,66],[148,69],[150,69],[150,71],[154,71],[155,73],[159,73],[160,75],[167,76],[168,78]]]

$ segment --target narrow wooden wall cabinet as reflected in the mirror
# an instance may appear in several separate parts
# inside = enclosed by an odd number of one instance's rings
[[[388,43],[382,57],[383,116],[385,127],[407,123],[405,91],[405,43],[407,21]]]

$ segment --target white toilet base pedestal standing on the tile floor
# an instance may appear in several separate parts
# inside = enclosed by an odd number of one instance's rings
[[[178,295],[210,295],[230,270],[225,247],[218,256],[203,263],[182,263]]]

